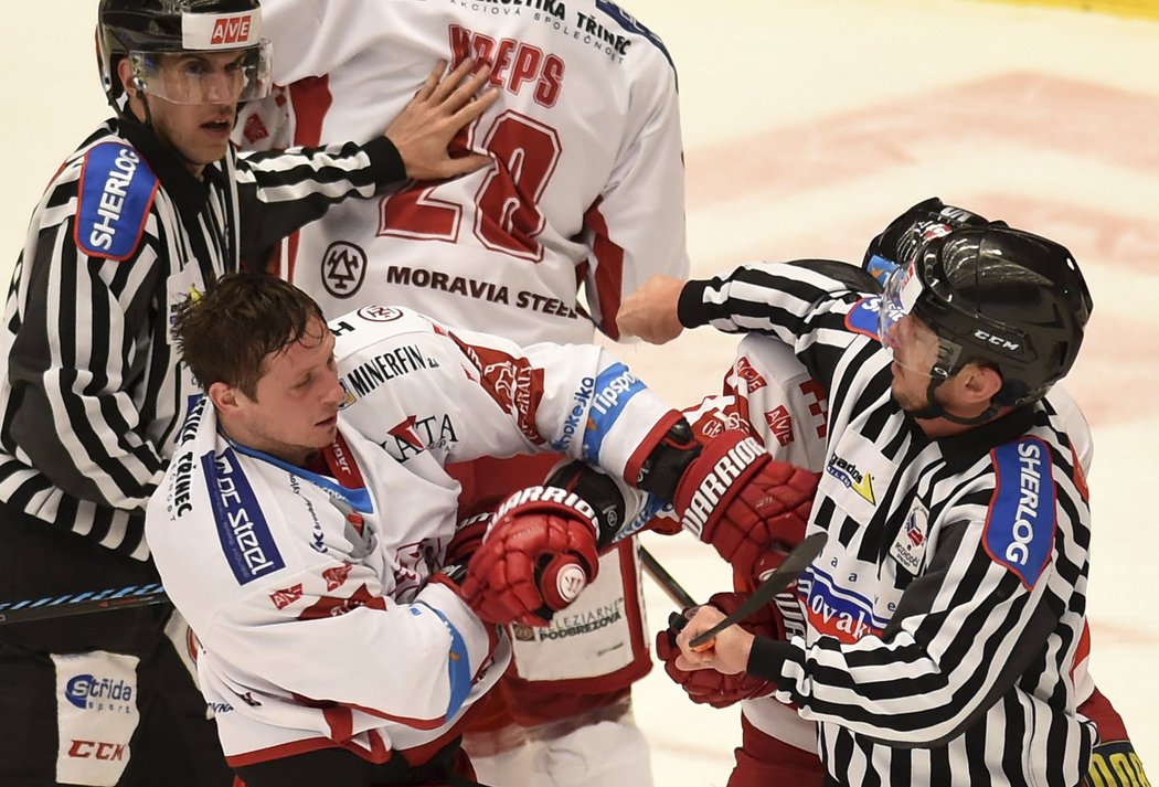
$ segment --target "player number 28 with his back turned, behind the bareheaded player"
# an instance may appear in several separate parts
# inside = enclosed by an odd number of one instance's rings
[[[246,148],[378,133],[378,112],[433,58],[489,60],[501,89],[460,139],[494,159],[488,175],[411,182],[280,247],[278,272],[327,314],[394,304],[520,344],[588,342],[593,325],[619,337],[619,304],[649,276],[687,275],[675,67],[614,3],[270,0],[265,13],[283,87],[242,110]],[[486,505],[552,461],[453,472],[464,503]],[[513,632],[515,666],[467,735],[496,781],[575,784],[556,763],[577,756],[590,763],[585,787],[650,782],[629,712],[629,687],[650,669],[633,545],[602,563],[569,619]],[[611,749],[634,751],[636,766],[605,767]]]

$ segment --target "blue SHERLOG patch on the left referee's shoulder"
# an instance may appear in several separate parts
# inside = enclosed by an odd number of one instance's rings
[[[158,184],[156,175],[129,145],[101,143],[89,148],[78,187],[76,248],[117,262],[133,256]]]

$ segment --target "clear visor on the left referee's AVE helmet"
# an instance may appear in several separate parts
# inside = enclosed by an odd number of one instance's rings
[[[130,52],[138,89],[174,104],[232,104],[270,93],[270,42],[246,49]]]

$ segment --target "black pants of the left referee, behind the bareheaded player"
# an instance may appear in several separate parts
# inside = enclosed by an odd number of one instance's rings
[[[0,504],[0,600],[58,596],[156,582],[152,563],[124,558]],[[168,605],[0,625],[0,785],[58,784],[57,756],[88,743],[58,741],[52,654],[104,651],[136,656],[140,714],[119,787],[231,787],[205,701],[165,635]],[[74,704],[75,705],[75,704]]]

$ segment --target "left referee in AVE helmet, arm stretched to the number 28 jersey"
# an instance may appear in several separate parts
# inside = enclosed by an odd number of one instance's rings
[[[155,580],[145,504],[196,389],[170,341],[172,308],[334,203],[488,165],[451,159],[447,144],[497,96],[486,74],[466,78],[469,64],[442,81],[440,68],[381,138],[240,156],[238,108],[270,86],[257,0],[73,5],[95,30],[53,44],[96,44],[112,111],[61,152],[7,290],[5,599]],[[232,784],[184,631],[166,605],[5,626],[0,784]],[[102,700],[110,691],[116,701]]]

